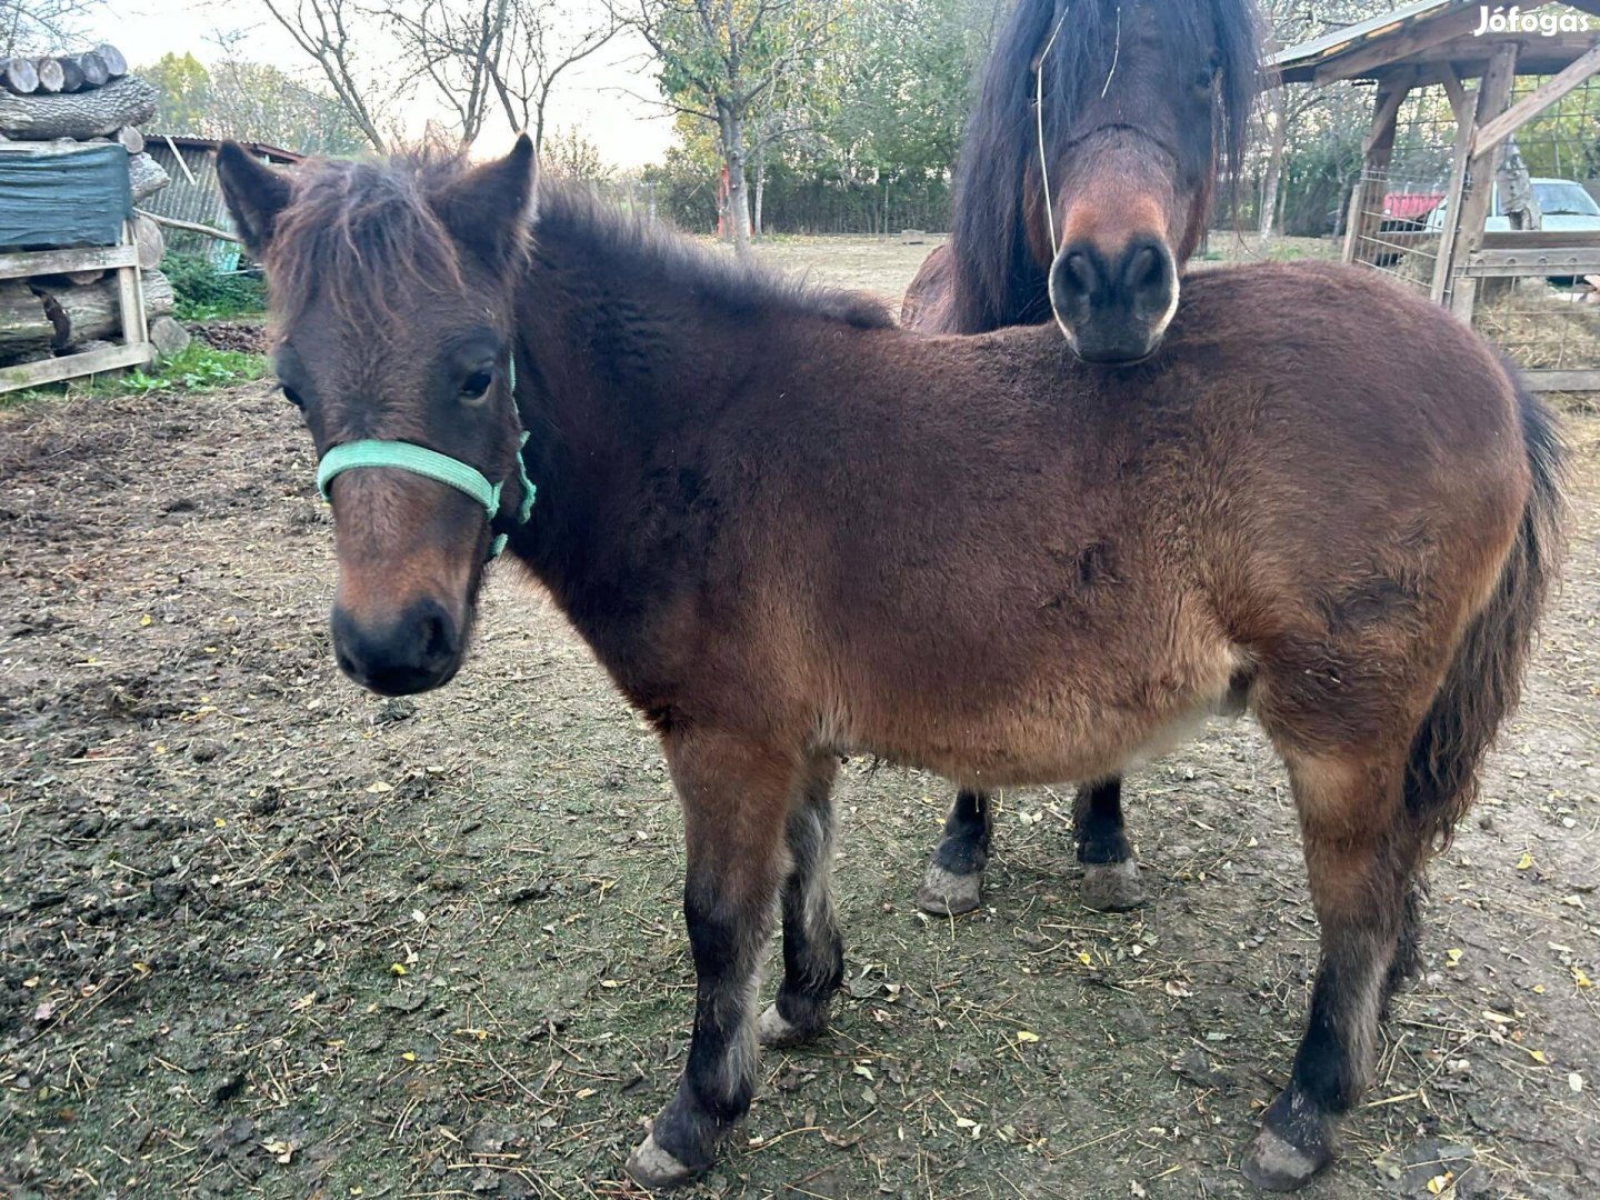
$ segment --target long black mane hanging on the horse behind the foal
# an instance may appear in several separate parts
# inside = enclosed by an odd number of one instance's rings
[[[1034,56],[1070,3],[1045,72],[1045,128],[1064,130],[1080,98],[1106,78],[1117,0],[1018,0],[995,40],[955,168],[950,251],[965,325],[1030,323],[1050,317],[1045,275],[1027,248],[1021,186],[1038,155]],[[1245,154],[1258,91],[1258,18],[1251,0],[1163,0],[1176,37],[1211,29],[1222,62],[1216,138],[1230,174]],[[997,197],[1005,197],[1003,203]]]

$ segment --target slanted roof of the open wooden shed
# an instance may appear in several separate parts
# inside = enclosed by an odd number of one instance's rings
[[[1547,0],[1522,0],[1523,13]],[[1491,8],[1494,5],[1490,5]],[[1443,74],[1482,75],[1494,48],[1507,38],[1518,43],[1518,75],[1554,75],[1600,45],[1600,0],[1568,0],[1560,10],[1589,16],[1590,30],[1544,34],[1485,34],[1482,0],[1413,0],[1389,13],[1344,26],[1290,46],[1269,59],[1283,83],[1333,83],[1342,78],[1376,78],[1398,66],[1416,66],[1424,77]],[[1421,82],[1427,82],[1426,78]]]

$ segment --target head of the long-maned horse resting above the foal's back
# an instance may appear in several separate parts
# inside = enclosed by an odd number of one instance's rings
[[[1048,6],[1048,5],[1046,5]],[[1178,309],[1218,158],[1256,90],[1250,0],[1059,0],[1034,43],[1029,250],[1091,362],[1134,362]]]

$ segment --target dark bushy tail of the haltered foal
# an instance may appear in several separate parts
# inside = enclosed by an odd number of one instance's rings
[[[1483,754],[1517,707],[1539,614],[1562,557],[1562,434],[1510,363],[1506,373],[1517,389],[1533,490],[1494,592],[1467,626],[1406,763],[1406,811],[1418,832],[1440,846],[1450,842],[1456,822],[1477,798]]]

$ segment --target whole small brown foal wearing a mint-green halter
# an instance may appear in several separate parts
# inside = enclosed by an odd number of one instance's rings
[[[1229,694],[1288,763],[1322,922],[1245,1170],[1330,1160],[1552,570],[1557,437],[1470,330],[1339,267],[1240,269],[1186,288],[1160,365],[1107,373],[1050,328],[906,333],[578,192],[530,221],[526,139],[219,173],[334,507],[339,666],[448,682],[509,536],[659,731],[698,994],[635,1178],[710,1165],[757,1035],[826,1026],[842,754],[1104,778]]]

